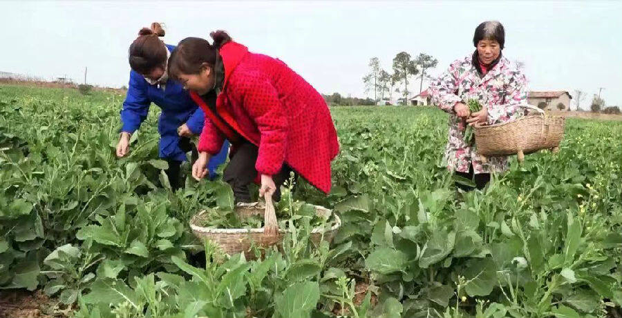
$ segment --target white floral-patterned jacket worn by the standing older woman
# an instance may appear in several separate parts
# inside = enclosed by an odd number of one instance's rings
[[[452,171],[490,173],[507,170],[507,157],[489,158],[482,163],[475,145],[464,142],[466,121],[455,115],[453,106],[469,99],[478,99],[482,107],[488,109],[488,123],[502,123],[522,117],[525,111],[518,105],[527,103],[527,79],[515,63],[501,57],[487,74],[480,77],[473,66],[472,57],[458,59],[451,63],[449,70],[430,84],[432,102],[445,112],[449,112],[449,143],[444,161]]]

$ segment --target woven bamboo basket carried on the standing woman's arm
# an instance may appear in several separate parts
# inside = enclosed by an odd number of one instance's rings
[[[475,146],[480,159],[517,155],[518,161],[538,150],[559,150],[564,136],[565,118],[548,116],[540,108],[521,104],[523,108],[536,110],[538,115],[527,115],[507,123],[475,126]]]

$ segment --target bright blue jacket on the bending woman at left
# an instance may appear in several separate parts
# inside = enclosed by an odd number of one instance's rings
[[[175,46],[167,45],[167,48],[172,51]],[[121,110],[121,121],[123,123],[121,131],[135,132],[142,121],[147,118],[149,105],[152,102],[162,109],[158,120],[160,158],[185,161],[186,154],[178,146],[177,128],[183,123],[187,123],[188,128],[194,134],[200,135],[205,117],[201,108],[194,103],[189,93],[178,81],[169,79],[164,90],[162,90],[158,85],[149,84],[141,74],[132,70],[127,95]],[[210,175],[214,175],[216,167],[225,162],[228,149],[229,144],[225,143],[220,153],[211,157],[208,163]]]

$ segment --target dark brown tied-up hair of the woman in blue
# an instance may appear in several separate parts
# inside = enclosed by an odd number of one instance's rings
[[[129,63],[132,70],[148,74],[158,66],[167,63],[167,47],[158,37],[164,37],[160,23],[151,23],[151,28],[142,28],[129,48]]]

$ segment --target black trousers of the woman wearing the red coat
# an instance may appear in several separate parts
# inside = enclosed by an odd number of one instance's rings
[[[255,169],[258,151],[259,148],[249,142],[236,146],[236,152],[230,157],[229,164],[223,172],[223,180],[231,185],[236,203],[250,203],[252,201],[249,185],[258,173]],[[272,195],[274,201],[281,201],[281,186],[290,178],[290,172],[292,172],[292,168],[283,164],[281,171],[272,176],[276,185],[276,191]]]

